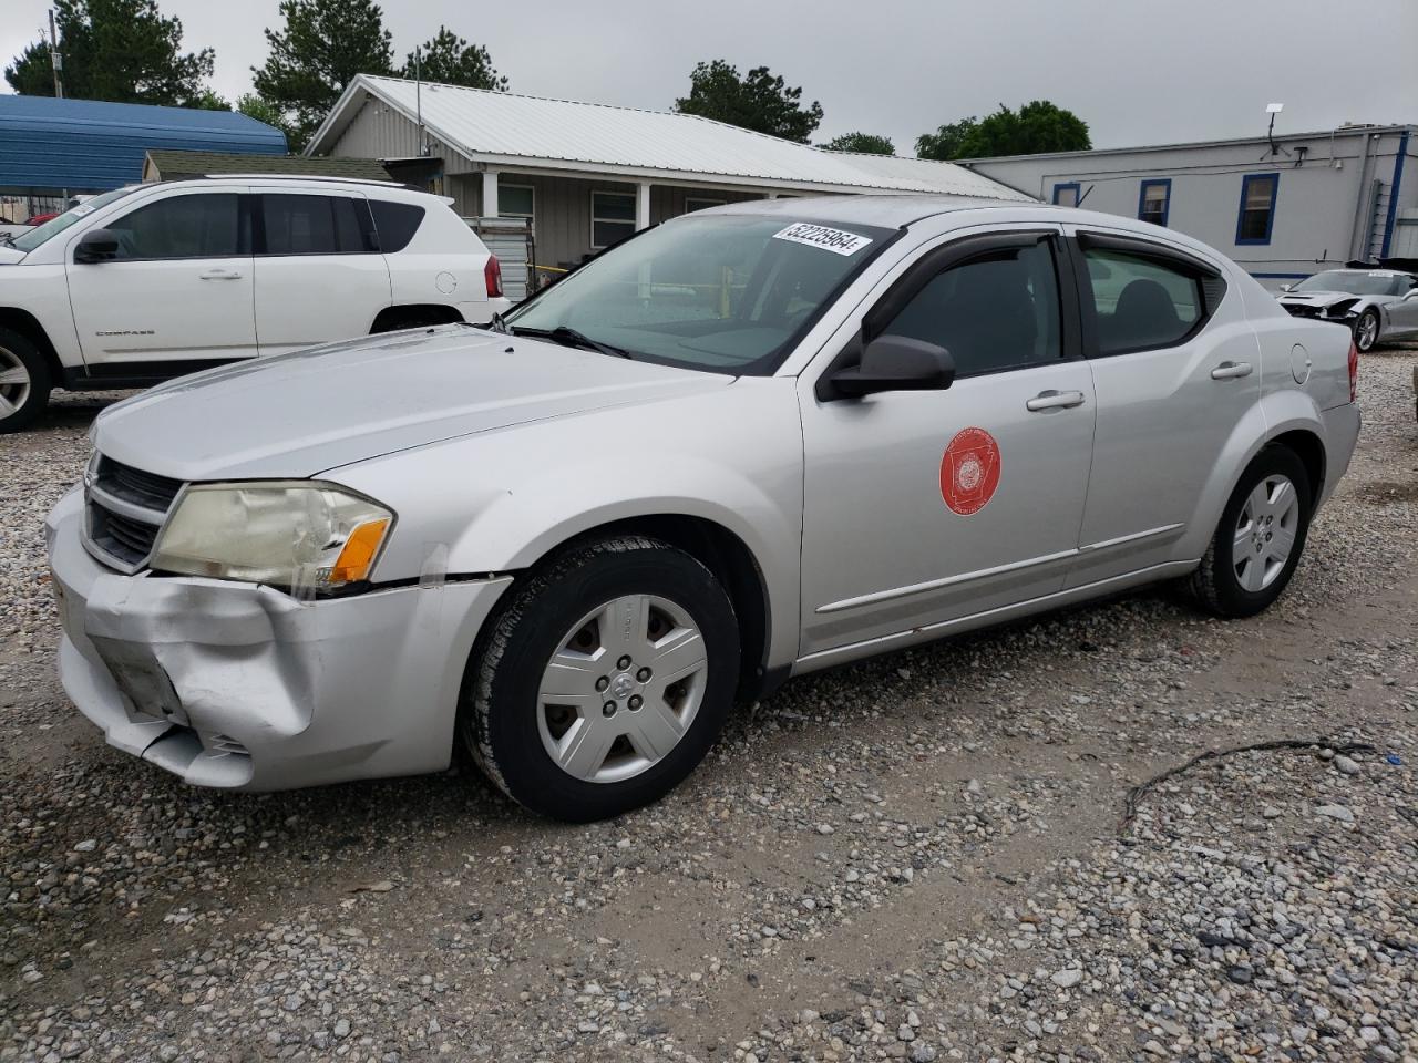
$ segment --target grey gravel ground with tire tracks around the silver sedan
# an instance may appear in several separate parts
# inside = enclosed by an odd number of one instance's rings
[[[797,680],[577,828],[468,768],[108,750],[52,668],[69,397],[0,437],[0,1060],[1415,1059],[1415,361],[1364,357],[1268,615],[1159,590]]]

